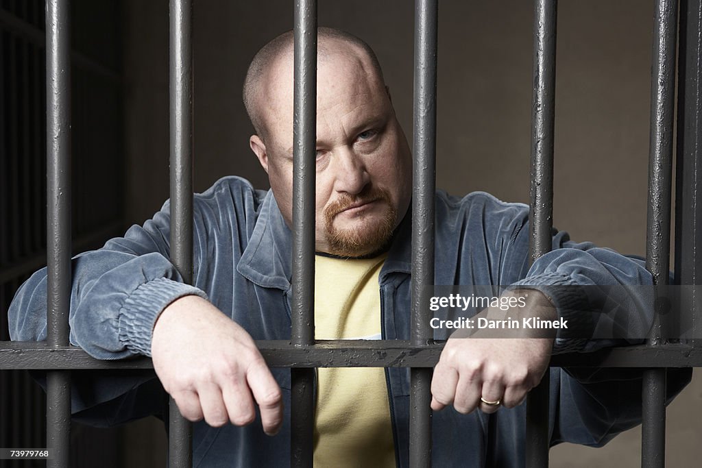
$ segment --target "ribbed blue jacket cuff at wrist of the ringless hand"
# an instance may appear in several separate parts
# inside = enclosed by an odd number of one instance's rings
[[[140,284],[119,310],[119,341],[132,352],[151,356],[151,335],[156,319],[166,306],[186,295],[207,299],[203,290],[167,278]]]

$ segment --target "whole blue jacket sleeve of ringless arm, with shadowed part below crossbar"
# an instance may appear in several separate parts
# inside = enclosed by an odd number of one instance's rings
[[[72,260],[69,340],[97,359],[151,354],[151,331],[170,302],[204,292],[181,282],[168,261],[168,214],[161,210],[143,227]],[[15,341],[46,340],[46,268],[18,290],[8,309]],[[46,387],[46,373],[32,376]],[[163,389],[153,370],[74,370],[74,419],[100,427],[163,415]]]

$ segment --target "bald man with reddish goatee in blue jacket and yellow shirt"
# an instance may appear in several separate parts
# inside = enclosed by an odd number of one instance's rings
[[[100,359],[152,356],[181,413],[201,421],[196,466],[289,460],[289,372],[267,368],[254,340],[290,337],[292,44],[291,33],[267,44],[244,85],[256,129],[251,149],[271,191],[224,178],[196,197],[194,286],[180,282],[168,262],[167,207],[74,260],[72,343]],[[359,39],[319,29],[317,88],[316,337],[407,339],[409,145],[375,55]],[[464,199],[438,193],[435,283],[512,286],[503,297],[525,305],[513,316],[559,317],[580,333],[612,311],[597,297],[553,286],[650,284],[641,262],[573,243],[564,232],[553,238],[558,250],[529,267],[527,221],[523,205],[483,193]],[[42,271],[15,297],[13,340],[44,339],[45,301]],[[584,312],[595,308],[597,314]],[[499,308],[480,314],[504,315]],[[550,354],[600,346],[568,333],[447,342],[432,380],[436,466],[524,464],[520,403]],[[551,376],[552,443],[600,445],[637,423],[639,375],[552,369]],[[690,373],[669,376],[672,397]],[[143,375],[75,383],[74,413],[88,419],[129,420],[157,413],[163,401]],[[316,384],[318,466],[408,463],[406,369],[319,369]]]

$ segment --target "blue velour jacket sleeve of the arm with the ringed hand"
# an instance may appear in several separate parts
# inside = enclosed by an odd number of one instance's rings
[[[496,202],[501,203],[501,202]],[[501,250],[496,277],[542,290],[569,329],[558,330],[554,354],[590,352],[643,342],[653,320],[654,288],[644,262],[576,243],[554,231],[552,251],[529,266],[529,215],[524,205],[500,205],[492,220]],[[643,369],[551,368],[551,444],[602,446],[640,424]],[[690,368],[667,370],[666,403],[691,380]]]

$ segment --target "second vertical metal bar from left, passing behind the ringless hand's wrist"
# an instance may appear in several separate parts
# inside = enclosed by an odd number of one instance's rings
[[[169,4],[171,140],[171,262],[192,283],[192,4]],[[168,410],[168,461],[192,467],[192,424],[173,399]]]

